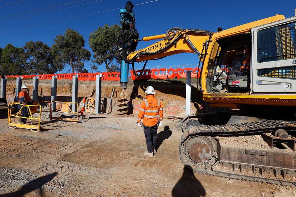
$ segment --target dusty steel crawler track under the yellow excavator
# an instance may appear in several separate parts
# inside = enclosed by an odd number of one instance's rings
[[[245,122],[240,124],[227,124],[227,125],[203,125],[192,124],[194,120],[209,116],[210,114],[200,114],[197,116],[191,116],[184,118],[183,122],[183,134],[180,139],[179,153],[180,159],[184,165],[191,168],[193,171],[201,174],[208,174],[214,176],[220,176],[232,179],[243,179],[257,182],[267,182],[272,184],[289,185],[296,187],[296,167],[295,159],[295,142],[296,139],[292,138],[279,138],[272,136],[271,133],[278,131],[296,131],[296,121],[282,121],[282,120],[260,120]],[[192,122],[187,125],[189,119]],[[219,137],[229,136],[247,136],[247,135],[262,135],[271,140],[271,143],[275,143],[277,140],[284,140],[285,143],[289,143],[291,150],[283,153],[288,154],[284,157],[280,152],[276,151],[276,148],[270,148],[271,153],[264,149],[249,149],[247,147],[229,148],[220,145]],[[281,141],[280,141],[281,142]],[[274,145],[271,145],[274,146]],[[225,159],[223,157],[235,157],[233,151],[236,150],[235,156],[240,160],[240,153],[245,156],[249,156],[247,162],[236,162],[231,159]],[[224,152],[223,152],[224,151]],[[228,154],[226,152],[228,151]],[[273,152],[272,152],[273,151]],[[268,154],[274,154],[277,158],[275,160],[277,165],[260,165],[260,162],[254,162],[252,159],[260,159]],[[272,157],[271,156],[271,157]],[[265,157],[264,159],[266,159]],[[288,165],[278,166],[278,165]],[[292,164],[291,164],[292,163]],[[276,167],[275,167],[276,166]],[[292,167],[291,167],[292,166]]]

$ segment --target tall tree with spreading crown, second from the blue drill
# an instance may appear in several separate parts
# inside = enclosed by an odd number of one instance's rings
[[[85,43],[83,36],[68,28],[64,35],[57,35],[54,41],[52,46],[54,64],[69,64],[73,73],[83,72],[84,62],[90,60],[91,56],[91,53],[83,48]]]

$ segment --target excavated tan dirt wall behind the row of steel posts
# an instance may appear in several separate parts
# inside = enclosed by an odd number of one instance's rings
[[[22,80],[22,84],[28,86],[29,94],[33,93],[33,79]],[[156,97],[161,99],[164,107],[165,116],[184,117],[185,115],[185,97],[186,84],[183,81],[164,81],[164,80],[139,80],[130,81],[127,88],[127,99],[129,99],[129,113],[137,114],[142,100],[135,99],[135,95],[142,95],[145,97],[145,89],[148,86],[153,86],[156,91]],[[101,98],[107,98],[109,104],[112,89],[115,88],[114,96],[112,98],[112,112],[117,114],[118,99],[120,99],[120,82],[119,81],[102,81]],[[16,92],[16,80],[7,81],[7,95],[8,102],[13,102]],[[50,100],[51,95],[51,80],[39,80],[38,85],[38,101]],[[78,81],[78,103],[79,109],[82,107],[84,97],[95,96],[95,81]],[[57,81],[57,101],[71,101],[72,100],[72,80],[58,80]],[[196,81],[192,80],[191,85],[191,113],[198,113],[200,105],[203,105],[201,96],[198,94],[196,88]]]

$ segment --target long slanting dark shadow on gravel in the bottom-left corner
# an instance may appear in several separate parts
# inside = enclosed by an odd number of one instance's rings
[[[0,195],[0,197],[24,196],[25,194],[30,193],[30,192],[37,190],[37,189],[39,189],[40,195],[43,196],[41,186],[47,182],[50,182],[57,175],[58,175],[58,173],[54,172],[54,173],[48,174],[46,176],[38,177],[37,179],[34,179],[34,180],[24,184],[23,186],[21,186],[21,188],[19,190],[17,190],[16,192],[3,194],[3,195]]]

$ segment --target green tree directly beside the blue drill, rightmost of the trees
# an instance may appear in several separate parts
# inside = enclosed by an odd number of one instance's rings
[[[95,58],[92,62],[101,65],[105,63],[108,72],[117,71],[119,69],[116,64],[120,64],[118,37],[121,34],[121,27],[118,24],[109,26],[105,24],[104,27],[99,27],[98,30],[90,33],[88,39],[90,48],[94,52]],[[92,66],[92,69],[98,68]]]

